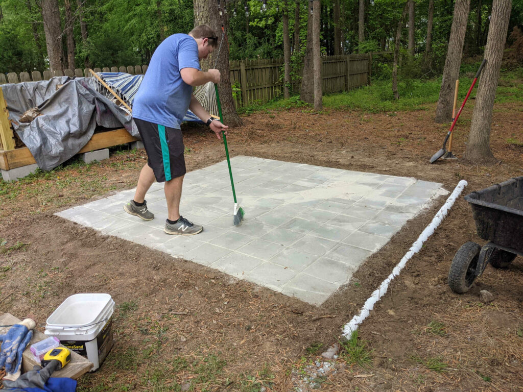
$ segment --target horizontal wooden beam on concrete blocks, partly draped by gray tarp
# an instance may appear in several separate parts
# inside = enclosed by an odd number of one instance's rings
[[[89,142],[78,151],[78,154],[94,151],[100,148],[135,142],[137,140],[139,139],[131,136],[124,128],[99,132],[93,134],[91,140],[89,140]],[[36,164],[36,160],[27,147],[16,148],[11,151],[0,151],[0,169],[10,170],[32,164]]]

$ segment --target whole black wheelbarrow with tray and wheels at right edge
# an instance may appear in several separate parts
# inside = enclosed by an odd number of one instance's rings
[[[475,191],[464,197],[472,208],[477,235],[484,246],[463,244],[449,270],[448,283],[456,293],[467,292],[488,263],[506,268],[523,256],[523,177]]]

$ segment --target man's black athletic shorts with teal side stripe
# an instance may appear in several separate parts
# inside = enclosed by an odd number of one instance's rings
[[[164,182],[185,175],[184,140],[181,130],[149,121],[133,119],[153,169],[156,181]]]

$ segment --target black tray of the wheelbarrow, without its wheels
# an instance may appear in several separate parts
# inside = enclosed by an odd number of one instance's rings
[[[477,235],[523,252],[523,177],[472,192],[464,199],[472,207]]]

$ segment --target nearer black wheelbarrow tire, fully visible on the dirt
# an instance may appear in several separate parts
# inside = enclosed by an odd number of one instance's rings
[[[450,264],[448,284],[453,292],[462,294],[469,291],[477,277],[475,268],[479,259],[481,246],[469,241],[463,244]]]

